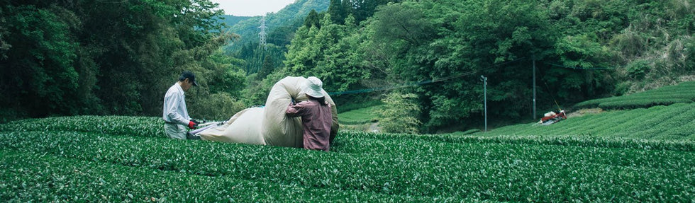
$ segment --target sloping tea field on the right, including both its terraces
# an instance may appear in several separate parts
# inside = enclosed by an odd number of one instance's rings
[[[647,139],[695,141],[695,81],[676,86],[587,100],[574,108],[601,108],[600,114],[587,114],[548,126],[516,124],[478,136],[512,137],[603,137],[609,139]]]

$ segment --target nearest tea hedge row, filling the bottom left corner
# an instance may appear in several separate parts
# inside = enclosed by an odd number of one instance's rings
[[[0,156],[4,168],[0,199],[38,202],[440,202],[450,197],[402,197],[377,193],[331,191],[282,182],[238,180],[226,176],[186,175],[179,171],[133,168],[80,161],[40,153],[9,151]],[[33,177],[33,178],[27,178]],[[169,185],[171,187],[162,187]],[[475,201],[469,199],[465,201]]]

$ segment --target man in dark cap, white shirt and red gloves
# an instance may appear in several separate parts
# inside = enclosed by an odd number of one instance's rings
[[[187,129],[195,129],[198,122],[191,120],[186,109],[186,95],[191,86],[198,86],[196,75],[190,71],[183,71],[179,81],[169,88],[164,96],[164,132],[172,139],[186,139]]]

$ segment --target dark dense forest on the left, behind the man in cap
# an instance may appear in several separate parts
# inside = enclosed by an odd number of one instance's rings
[[[221,11],[192,1],[0,1],[0,116],[160,115],[181,71],[189,111],[230,109],[244,74],[219,47]],[[223,73],[223,74],[220,74]]]

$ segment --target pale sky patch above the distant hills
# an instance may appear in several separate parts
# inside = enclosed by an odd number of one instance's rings
[[[220,4],[219,8],[227,15],[265,16],[265,13],[277,13],[294,0],[211,0]]]

